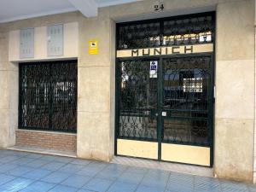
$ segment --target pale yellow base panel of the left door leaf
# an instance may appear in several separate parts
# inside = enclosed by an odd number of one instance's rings
[[[158,143],[118,139],[117,154],[157,160]]]

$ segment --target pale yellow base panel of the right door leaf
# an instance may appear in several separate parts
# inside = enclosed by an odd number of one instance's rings
[[[210,148],[168,143],[162,143],[161,148],[162,160],[210,166]]]

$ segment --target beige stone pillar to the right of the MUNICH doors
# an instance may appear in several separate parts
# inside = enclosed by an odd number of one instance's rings
[[[217,8],[214,170],[252,182],[254,4],[223,1]]]

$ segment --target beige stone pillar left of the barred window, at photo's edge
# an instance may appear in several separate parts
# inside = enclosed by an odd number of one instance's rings
[[[9,33],[0,32],[0,148],[15,145],[18,123],[18,67],[9,63]]]

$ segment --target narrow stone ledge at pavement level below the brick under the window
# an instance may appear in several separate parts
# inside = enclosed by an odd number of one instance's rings
[[[15,145],[7,149],[35,153],[35,154],[50,154],[50,155],[56,155],[56,156],[62,156],[62,157],[73,157],[73,158],[77,157],[76,153],[73,151],[61,151],[61,150],[54,150],[54,149],[47,149],[47,148],[32,148],[32,147]]]

